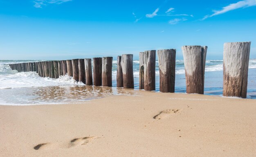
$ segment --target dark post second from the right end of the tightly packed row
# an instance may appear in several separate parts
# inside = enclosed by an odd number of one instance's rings
[[[102,85],[102,58],[93,58],[93,84],[95,86]]]

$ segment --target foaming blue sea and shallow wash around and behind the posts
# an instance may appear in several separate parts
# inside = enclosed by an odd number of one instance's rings
[[[113,87],[97,87],[76,82],[70,76],[58,79],[40,77],[36,72],[17,72],[8,64],[42,60],[0,60],[0,105],[43,105],[85,103],[109,95],[137,96],[139,90],[139,61],[133,61],[135,89],[116,87],[117,61],[113,60]],[[46,61],[46,60],[43,60]],[[204,94],[222,96],[223,61],[207,60]],[[186,93],[184,61],[176,60],[175,93]],[[156,61],[156,90],[159,92],[159,67]],[[249,60],[247,98],[256,99],[256,59]]]

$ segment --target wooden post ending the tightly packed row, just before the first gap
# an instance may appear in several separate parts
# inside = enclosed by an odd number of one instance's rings
[[[102,86],[112,87],[112,60],[113,57],[102,57]]]

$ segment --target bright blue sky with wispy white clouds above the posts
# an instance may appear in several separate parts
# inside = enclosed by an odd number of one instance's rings
[[[0,59],[75,59],[252,41],[255,0],[0,0]]]

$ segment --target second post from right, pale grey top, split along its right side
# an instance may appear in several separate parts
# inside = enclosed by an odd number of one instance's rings
[[[186,93],[204,94],[204,68],[207,46],[182,46]]]

